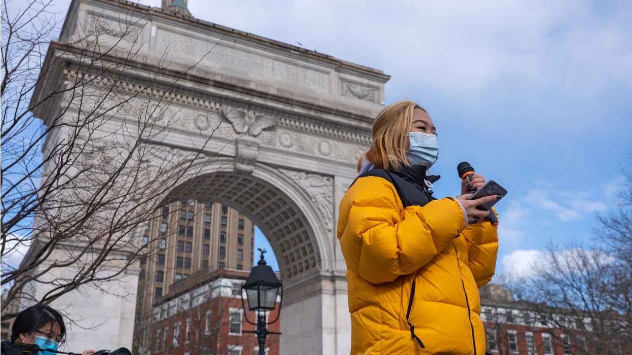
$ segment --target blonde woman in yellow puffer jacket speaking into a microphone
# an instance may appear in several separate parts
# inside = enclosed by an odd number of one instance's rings
[[[494,275],[496,227],[461,196],[437,200],[436,129],[415,102],[386,107],[360,176],[340,202],[337,238],[347,264],[351,354],[485,354],[478,287]]]

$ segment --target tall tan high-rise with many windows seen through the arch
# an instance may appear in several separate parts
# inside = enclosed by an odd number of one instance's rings
[[[221,203],[179,200],[159,208],[147,224],[142,243],[149,243],[140,261],[135,347],[152,323],[152,305],[169,287],[198,270],[250,270],[254,225]]]

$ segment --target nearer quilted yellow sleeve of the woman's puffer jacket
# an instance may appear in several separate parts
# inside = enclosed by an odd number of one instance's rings
[[[367,176],[341,201],[337,237],[349,270],[381,284],[430,262],[464,227],[458,202],[444,198],[404,209],[391,183]]]

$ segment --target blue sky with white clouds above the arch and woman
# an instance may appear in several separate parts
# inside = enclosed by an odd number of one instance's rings
[[[616,203],[632,163],[632,2],[189,0],[189,9],[391,75],[386,104],[416,100],[437,126],[435,196],[458,194],[463,160],[509,191],[497,205],[500,270],[528,270],[552,240],[590,243],[595,214]]]

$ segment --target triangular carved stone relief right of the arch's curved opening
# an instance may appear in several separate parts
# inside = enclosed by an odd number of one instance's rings
[[[307,195],[310,196],[314,205],[320,211],[320,215],[325,222],[327,231],[332,230],[333,226],[333,203],[334,191],[332,188],[332,178],[329,176],[320,176],[317,174],[306,174],[301,171],[291,171],[279,169],[285,176],[299,184]]]

